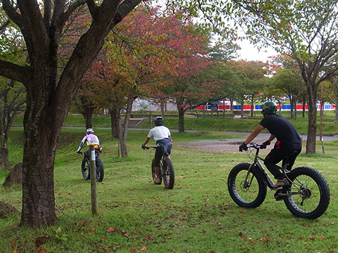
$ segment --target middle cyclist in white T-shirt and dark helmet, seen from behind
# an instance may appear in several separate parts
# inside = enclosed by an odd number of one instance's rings
[[[156,179],[154,183],[161,183],[160,179],[160,161],[162,155],[165,158],[170,159],[171,147],[173,145],[173,140],[170,135],[170,130],[168,127],[163,126],[163,117],[156,117],[155,127],[149,131],[148,136],[146,136],[146,140],[142,144],[142,148],[149,142],[150,138],[153,137],[154,141],[156,141],[156,152],[155,152],[155,162],[154,162],[154,170],[156,174]]]

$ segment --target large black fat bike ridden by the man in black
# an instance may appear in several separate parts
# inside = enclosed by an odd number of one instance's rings
[[[227,179],[227,187],[240,207],[255,208],[263,203],[267,186],[275,190],[275,200],[284,200],[287,209],[301,218],[317,219],[322,216],[330,203],[330,188],[320,172],[310,167],[287,170],[288,158],[281,168],[289,186],[273,188],[273,181],[258,155],[261,145],[248,145],[249,156],[253,163],[237,164]],[[256,153],[254,152],[256,150]]]

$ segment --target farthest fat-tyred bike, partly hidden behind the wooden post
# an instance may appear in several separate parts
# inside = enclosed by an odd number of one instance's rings
[[[82,176],[85,180],[90,179],[90,160],[89,160],[89,150],[79,154],[83,155],[83,160],[81,164]],[[99,150],[95,150],[95,171],[96,171],[96,181],[102,182],[104,180],[104,163],[100,158]]]

